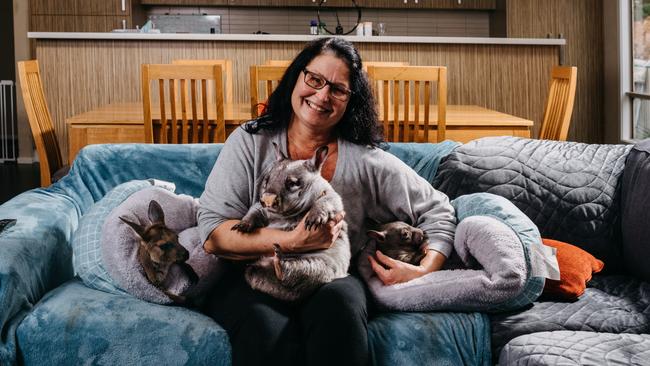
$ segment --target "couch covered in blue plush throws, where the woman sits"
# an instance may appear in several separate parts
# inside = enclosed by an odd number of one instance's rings
[[[393,145],[432,178],[456,146]],[[0,234],[0,364],[229,365],[226,332],[211,318],[86,287],[74,276],[70,239],[113,187],[133,179],[176,184],[198,197],[221,145],[95,145],[69,175],[0,206],[17,224]],[[480,313],[391,313],[369,324],[374,364],[487,364],[489,321]],[[439,362],[439,363],[438,363]]]

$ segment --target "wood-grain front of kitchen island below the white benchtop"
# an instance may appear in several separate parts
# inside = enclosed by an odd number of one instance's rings
[[[112,102],[141,100],[140,65],[230,58],[233,93],[246,103],[248,68],[291,59],[302,42],[39,40],[37,57],[56,133],[67,156],[65,119]],[[448,67],[448,102],[476,104],[540,121],[555,46],[357,44],[364,60]],[[535,126],[535,133],[538,126]]]

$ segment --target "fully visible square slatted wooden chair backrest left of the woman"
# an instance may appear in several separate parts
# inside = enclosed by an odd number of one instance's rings
[[[221,73],[219,65],[143,64],[145,142],[224,142],[226,126]],[[152,81],[153,89],[157,88],[158,93],[152,92]],[[208,98],[210,83],[215,95]],[[154,126],[154,120],[160,123]]]

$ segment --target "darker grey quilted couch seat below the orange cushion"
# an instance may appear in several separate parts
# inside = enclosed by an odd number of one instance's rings
[[[490,320],[497,351],[515,337],[543,331],[650,333],[650,283],[596,275],[575,302],[539,301],[525,311],[494,314]]]

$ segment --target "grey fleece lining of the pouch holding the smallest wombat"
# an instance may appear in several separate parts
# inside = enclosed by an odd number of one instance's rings
[[[530,263],[522,241],[499,219],[462,220],[454,250],[459,261],[452,256],[446,269],[384,286],[368,264],[367,255],[374,252],[370,244],[359,259],[359,271],[378,305],[388,310],[503,311],[527,305],[541,293],[538,281],[528,281]]]

